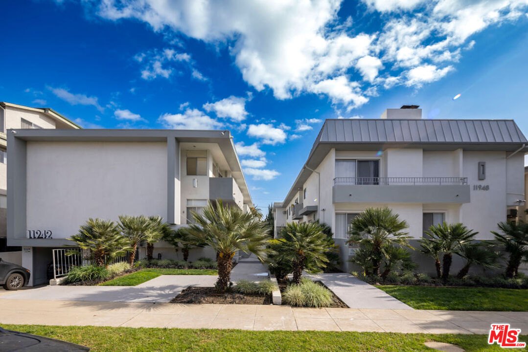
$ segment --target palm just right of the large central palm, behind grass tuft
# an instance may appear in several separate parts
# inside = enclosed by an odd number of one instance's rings
[[[276,260],[293,263],[294,283],[300,283],[306,267],[312,270],[326,267],[328,243],[322,230],[316,223],[288,223],[282,229]]]

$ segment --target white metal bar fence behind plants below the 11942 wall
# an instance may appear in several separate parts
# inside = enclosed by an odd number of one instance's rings
[[[107,262],[105,258],[105,263],[107,265],[128,262],[130,253],[126,255],[119,256],[113,260]],[[84,265],[90,264],[87,260],[88,252],[82,250],[81,248],[59,248],[52,250],[53,256],[53,279],[63,277],[67,275],[71,268],[73,267],[83,267]],[[136,250],[135,260],[144,260],[147,259],[147,248],[138,247]]]

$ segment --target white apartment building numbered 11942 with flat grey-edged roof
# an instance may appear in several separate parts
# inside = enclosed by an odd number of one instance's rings
[[[22,246],[30,285],[46,281],[52,249],[74,244],[65,239],[89,217],[161,215],[184,225],[209,199],[246,211],[252,206],[229,131],[16,129],[7,135],[14,159],[7,169],[7,242]],[[196,249],[190,260],[214,254]],[[177,255],[169,244],[155,244],[155,258]]]

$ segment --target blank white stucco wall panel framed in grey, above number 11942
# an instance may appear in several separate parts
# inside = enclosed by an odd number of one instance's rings
[[[59,239],[89,217],[166,212],[166,143],[27,142],[27,229]]]

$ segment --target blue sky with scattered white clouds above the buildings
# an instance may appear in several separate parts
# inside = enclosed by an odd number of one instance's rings
[[[284,198],[326,118],[414,103],[425,118],[512,118],[528,133],[526,0],[3,9],[0,101],[85,128],[230,129],[260,207]]]

